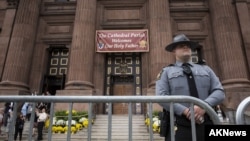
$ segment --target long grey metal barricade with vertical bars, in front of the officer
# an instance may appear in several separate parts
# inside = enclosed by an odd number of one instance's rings
[[[72,94],[71,94],[72,95]],[[146,103],[148,104],[147,113],[150,118],[150,125],[149,125],[149,138],[150,141],[153,141],[153,129],[152,129],[152,109],[153,104],[155,103],[170,103],[170,135],[171,140],[174,141],[174,110],[173,110],[173,104],[174,103],[190,103],[190,107],[193,107],[193,105],[199,105],[203,109],[206,110],[206,113],[210,117],[210,119],[215,124],[221,124],[217,113],[214,111],[214,109],[209,106],[204,101],[197,99],[195,97],[190,96],[0,96],[0,102],[14,102],[14,110],[13,110],[13,120],[11,123],[11,127],[14,127],[14,122],[17,116],[17,104],[18,102],[31,102],[33,103],[33,110],[35,109],[35,103],[38,102],[50,102],[51,103],[51,109],[50,109],[50,115],[54,115],[54,103],[69,103],[69,115],[68,115],[68,129],[71,127],[71,120],[72,120],[72,107],[73,103],[88,103],[88,121],[91,121],[93,117],[93,103],[108,103],[108,137],[107,140],[111,141],[111,135],[112,135],[112,103],[128,103],[128,140],[132,141],[132,103]],[[195,136],[195,120],[194,120],[194,109],[190,108],[191,110],[191,126],[192,126],[192,137],[193,141],[196,141]],[[31,123],[29,131],[32,133],[32,128],[34,124],[34,116],[35,112],[32,112],[31,114]],[[48,129],[48,141],[51,141],[52,138],[52,123],[53,118],[49,119],[49,129]],[[89,124],[88,126],[88,141],[91,141],[91,129],[92,125]],[[32,140],[32,135],[29,135],[29,141]],[[10,137],[9,141],[13,140],[13,130],[10,131]],[[71,140],[71,133],[70,130],[67,131],[67,141]]]

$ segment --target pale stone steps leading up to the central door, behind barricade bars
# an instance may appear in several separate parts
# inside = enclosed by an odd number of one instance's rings
[[[127,115],[112,116],[112,141],[128,141],[129,127]],[[22,141],[28,140],[30,122],[25,122]],[[5,136],[0,136],[0,140],[4,140]],[[32,141],[36,140],[36,136]],[[48,133],[43,134],[43,141],[48,140]],[[52,141],[66,141],[67,134],[52,134]],[[88,140],[88,132],[86,128],[78,131],[76,134],[71,134],[70,141]],[[133,115],[132,117],[132,140],[133,141],[150,141],[150,135],[147,126],[144,123],[143,115]],[[157,133],[154,134],[154,141],[164,141]],[[108,115],[97,115],[92,125],[91,141],[108,141]]]

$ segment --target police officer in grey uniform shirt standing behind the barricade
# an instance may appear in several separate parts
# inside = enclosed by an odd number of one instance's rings
[[[173,42],[166,46],[166,50],[175,55],[175,64],[169,65],[159,73],[156,81],[156,95],[185,95],[194,96],[193,90],[187,79],[185,66],[188,66],[194,85],[196,86],[196,97],[208,103],[210,106],[221,104],[225,99],[224,89],[214,73],[205,64],[195,64],[191,62],[192,50],[195,50],[198,43],[190,41],[186,35],[179,34],[174,37]],[[189,78],[189,77],[188,77]],[[159,103],[164,109],[169,110],[169,103]],[[194,118],[196,125],[197,141],[204,141],[204,125],[212,124],[206,111],[194,105]],[[191,112],[189,103],[175,103],[174,115],[177,130],[175,131],[175,141],[192,141]],[[165,141],[170,141],[170,135],[165,137]]]

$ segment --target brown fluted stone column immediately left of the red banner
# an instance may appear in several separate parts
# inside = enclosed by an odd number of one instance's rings
[[[93,89],[96,0],[78,0],[70,49],[67,90]]]

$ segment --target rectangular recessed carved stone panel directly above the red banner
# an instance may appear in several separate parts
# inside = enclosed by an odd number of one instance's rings
[[[98,1],[102,29],[144,28],[147,17],[145,0]]]

